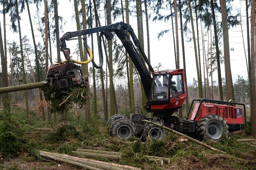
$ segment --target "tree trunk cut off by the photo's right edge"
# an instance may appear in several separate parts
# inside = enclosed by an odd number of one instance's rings
[[[252,136],[256,136],[256,86],[255,86],[255,0],[251,0],[251,121]]]

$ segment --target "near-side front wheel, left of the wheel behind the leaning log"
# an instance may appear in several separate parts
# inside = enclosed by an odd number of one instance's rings
[[[135,124],[127,118],[117,119],[109,128],[109,134],[120,139],[128,139],[137,135]]]

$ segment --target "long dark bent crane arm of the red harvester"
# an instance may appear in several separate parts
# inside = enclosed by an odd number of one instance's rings
[[[148,72],[148,68],[151,72],[154,72],[154,69],[152,68],[151,64],[148,61],[148,58],[143,50],[143,48],[140,45],[140,42],[138,41],[131,25],[125,24],[123,22],[118,22],[115,24],[107,25],[107,26],[100,26],[95,28],[89,28],[74,32],[68,32],[65,33],[60,38],[60,47],[66,48],[66,41],[72,40],[74,37],[87,35],[91,33],[97,33],[97,32],[103,32],[107,40],[112,39],[113,34],[111,32],[116,33],[117,37],[121,40],[121,42],[124,45],[124,48],[126,49],[127,53],[129,54],[134,66],[138,70],[141,78],[141,82],[144,87],[145,94],[147,98],[149,99],[150,92],[151,92],[151,85],[152,85],[152,78],[150,73]],[[141,57],[134,47],[128,33],[130,33],[134,45],[139,49]],[[101,44],[100,44],[101,45]],[[146,67],[144,61],[147,63],[148,68]]]

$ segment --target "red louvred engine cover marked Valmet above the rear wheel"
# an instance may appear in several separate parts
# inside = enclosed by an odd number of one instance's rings
[[[194,120],[198,107],[199,103],[196,103],[190,120]],[[200,121],[206,115],[219,115],[229,124],[244,124],[244,113],[240,107],[202,103],[196,121]]]

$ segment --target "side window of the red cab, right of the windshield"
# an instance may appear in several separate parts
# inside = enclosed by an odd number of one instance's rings
[[[182,75],[172,75],[170,85],[170,98],[183,93]]]

